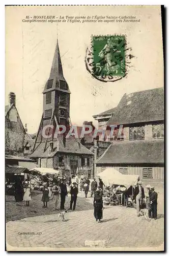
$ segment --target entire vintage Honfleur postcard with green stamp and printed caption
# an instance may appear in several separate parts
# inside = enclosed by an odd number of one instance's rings
[[[7,251],[164,250],[161,6],[6,6]]]

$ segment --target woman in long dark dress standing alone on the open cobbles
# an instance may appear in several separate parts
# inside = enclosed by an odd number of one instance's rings
[[[94,217],[96,221],[101,222],[100,220],[103,218],[103,200],[102,196],[100,195],[100,191],[95,192],[94,196]]]

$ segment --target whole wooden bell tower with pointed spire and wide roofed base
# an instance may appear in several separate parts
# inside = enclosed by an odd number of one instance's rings
[[[54,136],[59,125],[64,125],[66,131]],[[49,79],[43,91],[43,114],[30,157],[36,159],[39,167],[59,169],[63,175],[79,172],[92,178],[94,153],[82,145],[79,138],[67,137],[71,125],[70,90],[63,75],[57,41]],[[50,138],[46,138],[43,131]]]

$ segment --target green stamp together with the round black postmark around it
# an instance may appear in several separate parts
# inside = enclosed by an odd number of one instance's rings
[[[131,48],[126,35],[92,35],[91,45],[86,50],[85,63],[90,74],[103,82],[114,82],[128,73]]]

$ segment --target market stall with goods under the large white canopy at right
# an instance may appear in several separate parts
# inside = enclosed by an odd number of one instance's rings
[[[123,175],[115,168],[106,168],[98,174],[98,178],[105,185],[103,190],[104,204],[132,205],[133,189],[139,180],[138,175]]]

